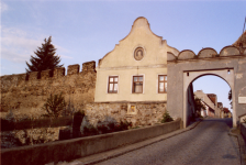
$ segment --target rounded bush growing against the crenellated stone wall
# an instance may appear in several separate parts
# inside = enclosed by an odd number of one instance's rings
[[[46,110],[47,116],[58,118],[62,111],[66,108],[66,102],[63,94],[52,95],[47,98],[46,102],[43,106],[43,109]]]

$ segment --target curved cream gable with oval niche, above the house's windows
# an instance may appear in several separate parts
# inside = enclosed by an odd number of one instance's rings
[[[147,19],[141,16],[134,21],[128,35],[100,59],[98,68],[166,64],[167,52],[178,54],[178,51],[168,46],[161,36],[154,34]]]

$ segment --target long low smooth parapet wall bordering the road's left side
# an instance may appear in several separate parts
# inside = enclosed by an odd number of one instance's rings
[[[127,131],[52,142],[33,146],[1,150],[1,163],[8,165],[40,165],[86,157],[147,139],[163,135],[180,129],[180,119],[176,121],[132,129]]]

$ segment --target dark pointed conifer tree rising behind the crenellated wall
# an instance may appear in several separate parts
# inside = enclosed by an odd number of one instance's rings
[[[36,56],[31,55],[31,64],[27,62],[26,65],[29,68],[25,68],[27,73],[30,72],[42,72],[46,69],[54,69],[56,67],[62,67],[63,65],[58,65],[60,62],[60,57],[56,54],[56,48],[52,44],[52,36],[48,40],[44,40],[45,43],[42,44],[41,47],[37,47],[34,54]]]

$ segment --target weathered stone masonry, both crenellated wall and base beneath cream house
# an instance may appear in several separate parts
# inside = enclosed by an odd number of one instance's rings
[[[166,101],[157,102],[94,102],[96,63],[56,68],[54,72],[44,70],[37,79],[37,72],[30,75],[10,75],[1,77],[1,114],[2,118],[10,110],[14,118],[38,118],[51,94],[63,92],[67,102],[71,102],[77,110],[85,110],[87,121],[93,125],[100,122],[120,122],[127,120],[133,125],[153,125],[160,122],[166,110]],[[52,77],[51,77],[52,76]],[[128,113],[128,106],[136,106],[136,113]]]

